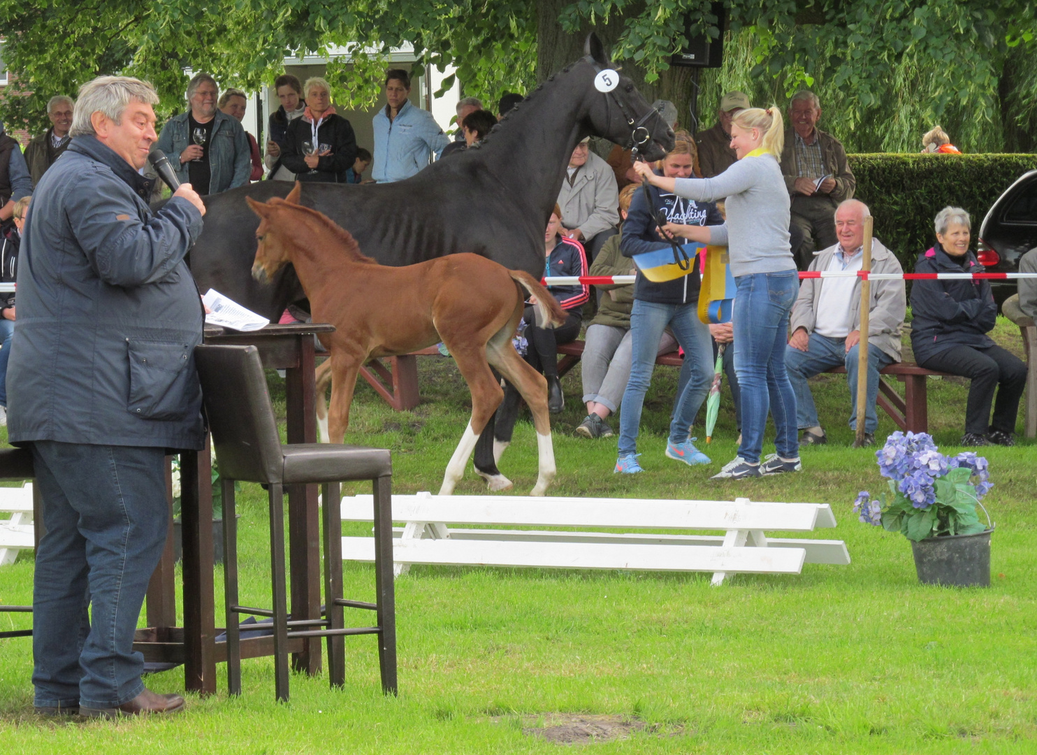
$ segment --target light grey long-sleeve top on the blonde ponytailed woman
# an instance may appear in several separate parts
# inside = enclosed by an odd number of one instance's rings
[[[746,157],[712,178],[677,178],[677,196],[726,199],[727,222],[709,226],[710,244],[727,245],[731,275],[795,270],[788,243],[789,197],[773,155]]]

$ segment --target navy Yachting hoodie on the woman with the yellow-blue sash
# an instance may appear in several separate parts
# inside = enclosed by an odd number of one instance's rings
[[[658,173],[658,171],[655,172]],[[655,222],[655,217],[660,209],[666,211],[666,217],[671,223],[684,225],[724,224],[724,218],[717,209],[714,202],[697,202],[694,199],[684,199],[676,194],[661,192],[651,186],[648,187],[648,191],[652,197],[651,206],[649,207],[642,188],[634,193],[630,208],[626,213],[626,221],[623,223],[623,237],[619,243],[619,251],[624,257],[634,257],[658,249],[671,249],[670,244],[662,241],[656,232],[658,225]],[[692,260],[692,264],[696,265],[695,272],[666,283],[652,283],[642,275],[641,271],[638,271],[638,277],[634,281],[634,298],[655,304],[698,302],[698,257]]]

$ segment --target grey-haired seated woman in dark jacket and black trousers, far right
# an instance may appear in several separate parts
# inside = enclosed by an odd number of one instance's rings
[[[916,273],[983,271],[976,255],[969,251],[965,211],[944,207],[935,226],[936,244],[918,258]],[[961,445],[1014,445],[1015,417],[1027,367],[986,335],[998,316],[990,284],[985,280],[917,280],[910,291],[910,307],[915,317],[910,330],[915,361],[926,369],[972,380]]]

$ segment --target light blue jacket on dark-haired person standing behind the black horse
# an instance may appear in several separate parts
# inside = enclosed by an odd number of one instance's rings
[[[403,104],[393,120],[389,106],[379,111],[374,125],[374,166],[371,177],[380,184],[410,178],[428,165],[429,156],[440,157],[450,138],[427,110]]]

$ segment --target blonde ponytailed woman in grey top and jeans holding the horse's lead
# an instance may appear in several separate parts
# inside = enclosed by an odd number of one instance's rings
[[[727,222],[667,224],[664,232],[727,245],[737,287],[734,300],[734,370],[741,391],[741,444],[717,478],[741,479],[797,472],[795,394],[785,371],[788,316],[800,288],[789,249],[789,197],[779,164],[784,123],[777,107],[749,108],[731,120],[738,161],[712,178],[670,178],[639,163],[652,186],[696,201],[726,198]],[[775,420],[777,453],[760,463],[767,413]]]

